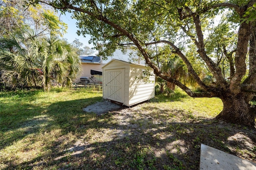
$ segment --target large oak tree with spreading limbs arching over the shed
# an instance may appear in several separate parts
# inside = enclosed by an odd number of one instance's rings
[[[91,42],[104,43],[107,47],[105,54],[109,55],[118,45],[133,45],[156,75],[175,83],[191,97],[219,97],[224,107],[217,119],[255,126],[256,109],[250,105],[256,94],[254,0],[37,2],[49,4],[62,12],[72,12],[78,20],[78,34],[90,34]],[[226,19],[222,18],[217,26],[219,20],[214,18],[221,16],[226,16]],[[222,31],[218,33],[217,30]],[[168,45],[170,53],[183,60],[190,75],[202,88],[200,93],[160,69],[157,51],[160,43]],[[222,55],[218,55],[220,53]],[[214,83],[209,85],[202,81],[193,64],[195,60],[204,63],[214,77]]]

